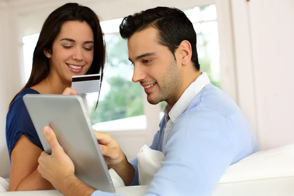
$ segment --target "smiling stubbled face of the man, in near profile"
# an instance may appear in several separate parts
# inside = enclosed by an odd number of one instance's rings
[[[128,39],[129,60],[134,64],[132,80],[144,87],[149,103],[175,102],[182,83],[180,66],[172,52],[158,43],[157,32],[148,27]]]

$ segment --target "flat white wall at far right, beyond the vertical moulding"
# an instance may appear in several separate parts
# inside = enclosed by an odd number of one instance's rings
[[[294,0],[251,0],[248,13],[259,140],[294,143]]]

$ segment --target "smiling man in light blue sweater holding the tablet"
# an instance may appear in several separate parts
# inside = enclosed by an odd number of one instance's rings
[[[150,146],[162,151],[165,161],[146,196],[210,196],[231,164],[259,150],[250,124],[236,103],[199,72],[196,33],[182,11],[157,7],[125,17],[120,33],[128,40],[133,81],[145,88],[149,103],[168,103]],[[42,153],[38,170],[56,189],[65,195],[115,196],[79,181],[50,127],[44,134],[52,154]],[[125,185],[139,185],[137,159],[128,162],[110,135],[96,136],[108,167]]]

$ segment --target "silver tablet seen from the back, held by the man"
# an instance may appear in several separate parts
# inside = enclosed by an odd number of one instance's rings
[[[50,125],[59,144],[73,160],[76,177],[97,190],[115,193],[82,98],[27,94],[23,99],[44,150],[51,154],[42,132],[44,126]]]

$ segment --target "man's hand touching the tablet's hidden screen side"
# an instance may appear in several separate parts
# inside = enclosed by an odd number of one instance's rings
[[[117,165],[123,162],[125,156],[118,143],[108,133],[94,131],[99,147],[107,165]]]

